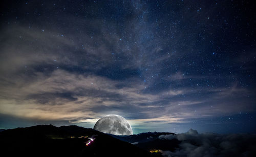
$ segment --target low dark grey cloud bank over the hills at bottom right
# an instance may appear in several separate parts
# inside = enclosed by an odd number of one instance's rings
[[[181,143],[174,152],[163,150],[163,156],[253,156],[255,134],[198,133],[190,129],[176,135],[160,135],[159,139],[177,139]]]

